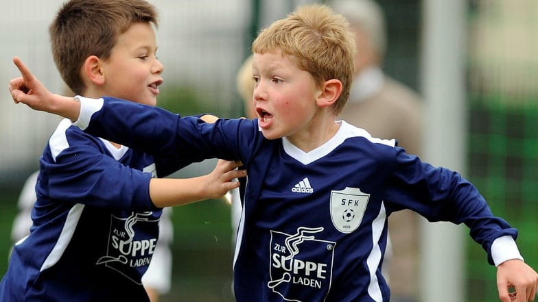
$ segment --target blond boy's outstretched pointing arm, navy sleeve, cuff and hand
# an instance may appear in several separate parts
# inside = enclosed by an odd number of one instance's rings
[[[250,131],[255,125],[242,123],[248,120],[219,119],[213,125],[201,123],[202,120],[196,116],[180,118],[178,114],[162,108],[110,97],[106,101],[105,98],[80,97],[79,103],[69,97],[53,95],[19,59],[15,58],[14,62],[23,75],[10,83],[16,103],[25,103],[34,110],[59,114],[75,121],[73,125],[87,134],[157,157],[180,158],[190,162],[208,158],[241,160],[239,151],[248,152],[248,148],[239,147],[238,144],[248,146],[255,137],[254,132]],[[241,136],[238,135],[239,132]]]

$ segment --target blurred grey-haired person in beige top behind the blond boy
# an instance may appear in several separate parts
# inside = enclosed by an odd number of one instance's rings
[[[373,0],[332,0],[355,34],[355,78],[339,118],[377,138],[396,138],[407,153],[421,156],[422,100],[411,88],[382,70],[387,47],[382,8]],[[384,262],[394,302],[418,299],[419,215],[403,210],[388,219],[389,242]]]

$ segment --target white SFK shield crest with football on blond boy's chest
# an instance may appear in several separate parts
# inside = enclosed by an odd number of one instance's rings
[[[331,219],[334,227],[342,233],[355,231],[362,222],[370,194],[358,188],[331,191]]]

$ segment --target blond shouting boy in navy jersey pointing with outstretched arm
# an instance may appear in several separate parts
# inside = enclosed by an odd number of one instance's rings
[[[421,162],[395,140],[336,121],[349,97],[354,52],[347,21],[325,5],[302,6],[272,23],[253,42],[252,121],[200,123],[110,97],[53,95],[17,59],[23,77],[10,90],[16,103],[135,149],[241,160],[248,177],[234,261],[239,302],[389,301],[381,273],[387,217],[404,208],[465,223],[498,268],[502,301],[511,301],[509,287],[518,302],[533,300],[538,275],[522,261],[517,230],[493,216],[469,181]]]

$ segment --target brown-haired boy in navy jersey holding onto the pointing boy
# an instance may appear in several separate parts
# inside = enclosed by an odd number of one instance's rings
[[[54,60],[76,94],[154,106],[163,82],[156,25],[157,12],[144,0],[67,1],[50,26]],[[190,163],[61,121],[40,158],[33,225],[15,244],[0,301],[149,301],[141,277],[162,208],[221,197],[244,175],[221,162],[202,177],[152,178]]]

